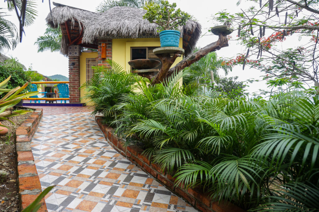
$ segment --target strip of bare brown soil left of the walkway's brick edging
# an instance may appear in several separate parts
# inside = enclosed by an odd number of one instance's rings
[[[20,108],[19,108],[20,109]],[[23,108],[24,110],[30,110]],[[9,121],[1,120],[1,124],[8,127],[6,135],[0,135],[0,211],[19,211],[19,192],[17,185],[17,153],[15,145],[16,129],[31,115],[13,116]]]

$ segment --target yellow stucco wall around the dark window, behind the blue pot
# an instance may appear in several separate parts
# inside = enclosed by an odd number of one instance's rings
[[[160,47],[159,38],[122,38],[112,40],[112,60],[121,65],[124,70],[129,71],[131,60],[131,47]],[[180,38],[179,47],[182,48],[182,38]],[[182,61],[182,57],[177,58],[173,64],[176,65]]]

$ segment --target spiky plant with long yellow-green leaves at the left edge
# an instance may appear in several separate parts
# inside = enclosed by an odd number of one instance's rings
[[[13,107],[16,104],[19,103],[23,98],[27,98],[30,96],[34,96],[39,94],[39,92],[27,92],[22,93],[26,86],[28,85],[28,82],[26,82],[22,87],[18,86],[14,89],[5,89],[5,87],[8,85],[8,82],[10,80],[11,76],[9,76],[7,79],[5,79],[3,82],[0,83],[0,120],[7,120],[10,121],[12,124],[13,122],[7,118],[12,116],[18,116],[25,113],[30,113],[30,111],[26,110],[15,110],[15,111],[6,111],[7,108]],[[1,127],[5,127],[4,125],[1,125]]]

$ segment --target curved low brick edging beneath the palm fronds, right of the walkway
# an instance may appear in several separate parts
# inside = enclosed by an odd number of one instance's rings
[[[175,194],[182,196],[195,208],[201,211],[218,211],[218,212],[245,212],[245,210],[235,206],[230,202],[223,201],[220,204],[210,200],[207,194],[204,194],[199,189],[183,188],[182,184],[174,186],[175,178],[168,174],[166,170],[162,171],[157,163],[151,163],[141,153],[143,149],[136,146],[124,146],[121,138],[114,134],[112,127],[108,127],[101,123],[101,117],[96,116],[95,120],[99,125],[101,131],[104,133],[108,143],[120,154],[129,159],[132,163],[136,164],[145,172],[151,174],[158,181],[163,183],[169,190]]]

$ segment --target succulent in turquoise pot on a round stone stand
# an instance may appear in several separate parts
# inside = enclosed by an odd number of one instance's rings
[[[175,10],[176,3],[169,4],[168,1],[161,1],[161,4],[149,3],[145,6],[147,12],[143,16],[151,23],[159,25],[159,39],[161,47],[178,47],[181,32],[177,31],[178,26],[183,26],[189,20],[190,15],[180,8]]]

